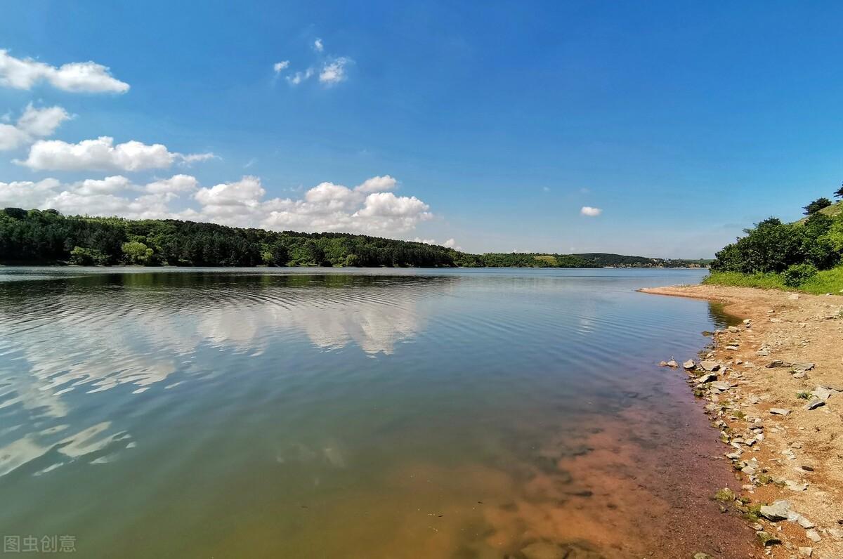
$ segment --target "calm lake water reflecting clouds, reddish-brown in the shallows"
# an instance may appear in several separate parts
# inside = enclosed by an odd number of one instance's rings
[[[86,557],[671,556],[666,530],[695,546],[723,515],[717,475],[682,473],[717,433],[657,363],[726,318],[635,289],[704,274],[0,268],[0,534]]]

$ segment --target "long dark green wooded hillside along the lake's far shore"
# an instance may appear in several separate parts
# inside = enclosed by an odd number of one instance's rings
[[[175,219],[0,210],[0,264],[82,266],[696,266],[641,256],[488,253],[345,233],[281,233]]]

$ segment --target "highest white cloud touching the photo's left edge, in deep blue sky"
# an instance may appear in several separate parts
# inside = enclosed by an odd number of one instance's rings
[[[70,62],[55,67],[32,58],[15,58],[0,49],[0,85],[31,89],[41,81],[74,93],[126,93],[129,90],[128,83],[112,77],[108,67],[96,62]]]

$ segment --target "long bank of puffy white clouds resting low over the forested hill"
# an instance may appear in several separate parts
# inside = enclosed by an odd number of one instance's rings
[[[395,180],[388,175],[373,177],[355,188],[323,182],[299,199],[267,200],[260,179],[249,175],[206,188],[200,188],[190,175],[173,175],[146,185],[133,184],[122,175],[70,184],[46,179],[0,183],[0,207],[52,207],[71,214],[182,218],[276,230],[384,235],[409,231],[432,218],[430,207],[416,196],[367,191],[376,184],[381,189],[391,188]],[[174,207],[180,196],[186,201],[191,193],[196,202],[193,207]],[[446,241],[449,244],[453,239]]]

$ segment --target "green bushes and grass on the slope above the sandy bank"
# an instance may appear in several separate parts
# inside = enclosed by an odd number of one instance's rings
[[[843,198],[843,187],[835,192]],[[707,282],[838,292],[843,278],[843,202],[819,198],[805,218],[783,223],[768,218],[717,252]]]

